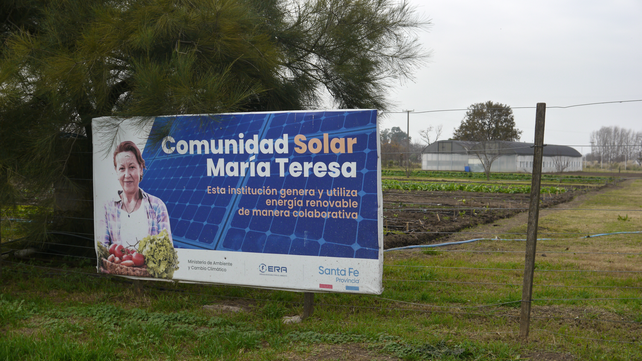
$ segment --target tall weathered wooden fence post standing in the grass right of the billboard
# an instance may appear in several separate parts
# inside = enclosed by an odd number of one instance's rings
[[[544,120],[546,103],[537,103],[535,115],[535,145],[533,151],[533,176],[531,179],[530,207],[528,209],[528,228],[526,231],[526,259],[524,261],[524,286],[522,287],[522,308],[519,335],[528,338],[531,318],[531,299],[533,295],[533,273],[537,249],[537,222],[539,219],[539,191],[542,178],[542,157],[544,155]]]

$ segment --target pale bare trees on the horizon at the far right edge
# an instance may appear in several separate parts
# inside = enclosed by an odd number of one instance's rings
[[[591,132],[589,161],[604,163],[635,160],[642,162],[642,132],[618,126],[602,127]]]

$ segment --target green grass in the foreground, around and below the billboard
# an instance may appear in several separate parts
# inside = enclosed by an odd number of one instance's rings
[[[547,210],[519,337],[525,223],[497,240],[385,253],[379,296],[130,280],[93,261],[5,260],[0,360],[642,359],[642,180]],[[473,234],[474,229],[467,230]],[[493,237],[494,238],[494,237]],[[235,307],[235,308],[233,308]]]

